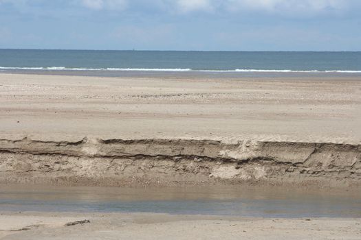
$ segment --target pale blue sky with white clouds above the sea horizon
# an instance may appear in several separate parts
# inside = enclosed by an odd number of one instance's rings
[[[0,0],[0,48],[361,51],[360,0]]]

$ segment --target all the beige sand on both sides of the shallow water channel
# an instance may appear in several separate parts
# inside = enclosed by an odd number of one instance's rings
[[[357,77],[0,74],[0,182],[359,191],[360,91]],[[359,218],[3,211],[0,237],[360,239],[360,224]]]

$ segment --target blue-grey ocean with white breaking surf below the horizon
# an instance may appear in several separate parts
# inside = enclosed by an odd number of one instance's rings
[[[136,72],[361,75],[361,52],[0,49],[0,71],[82,75],[97,72],[95,75]]]

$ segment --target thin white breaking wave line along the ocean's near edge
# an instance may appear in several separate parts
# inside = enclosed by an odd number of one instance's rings
[[[209,73],[361,73],[358,70],[290,70],[290,69],[234,69],[234,70],[197,70],[197,69],[145,69],[145,68],[68,68],[68,67],[0,67],[1,70],[44,70],[44,71],[160,71],[160,72],[209,72]]]

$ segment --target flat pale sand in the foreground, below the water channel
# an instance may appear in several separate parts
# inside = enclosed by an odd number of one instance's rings
[[[65,226],[89,219],[89,223]],[[359,239],[360,219],[1,213],[1,239]]]

